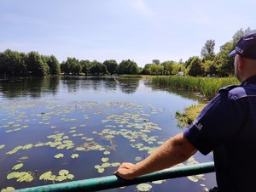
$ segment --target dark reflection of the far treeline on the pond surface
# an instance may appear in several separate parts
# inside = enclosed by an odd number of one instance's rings
[[[120,90],[135,93],[139,86],[137,79],[121,79],[112,76],[44,76],[0,79],[0,98],[39,99],[44,95],[55,95],[60,90],[76,93],[86,90],[95,92]]]

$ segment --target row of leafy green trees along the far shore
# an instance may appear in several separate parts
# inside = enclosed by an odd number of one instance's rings
[[[201,49],[201,57],[191,56],[186,62],[172,60],[160,63],[159,59],[153,59],[151,64],[139,68],[131,59],[122,60],[119,64],[114,59],[105,60],[103,63],[97,60],[76,59],[68,57],[61,64],[54,55],[45,56],[38,52],[20,53],[10,49],[0,53],[0,76],[47,76],[47,75],[105,75],[105,74],[131,74],[131,75],[176,75],[183,71],[189,76],[230,76],[233,75],[234,58],[227,55],[236,46],[239,38],[245,31],[236,31],[230,42],[220,47],[218,54],[214,53],[215,40],[207,40]]]

